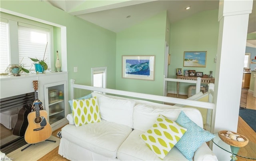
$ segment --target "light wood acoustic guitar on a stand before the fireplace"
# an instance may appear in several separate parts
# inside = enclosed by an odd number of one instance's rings
[[[52,135],[52,127],[48,120],[48,113],[40,110],[42,102],[36,99],[33,103],[34,110],[28,114],[28,127],[24,139],[27,143],[34,144],[47,140]]]

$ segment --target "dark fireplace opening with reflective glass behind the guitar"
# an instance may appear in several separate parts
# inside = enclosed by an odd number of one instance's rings
[[[28,126],[27,115],[34,99],[34,92],[0,99],[2,153],[8,154],[26,144],[24,134]]]

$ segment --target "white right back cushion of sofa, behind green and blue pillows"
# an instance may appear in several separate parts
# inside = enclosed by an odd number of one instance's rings
[[[203,119],[200,111],[194,108],[155,107],[152,105],[138,104],[134,107],[134,129],[147,131],[154,123],[158,115],[164,115],[168,119],[176,120],[180,111],[184,111],[191,120],[203,127]]]

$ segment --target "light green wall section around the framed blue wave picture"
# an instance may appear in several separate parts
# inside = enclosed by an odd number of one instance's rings
[[[116,34],[116,89],[162,95],[166,11]],[[155,80],[122,78],[122,56],[155,55]]]

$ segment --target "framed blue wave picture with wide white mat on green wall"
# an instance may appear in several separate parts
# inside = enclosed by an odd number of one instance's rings
[[[122,78],[154,81],[155,56],[122,56]]]

